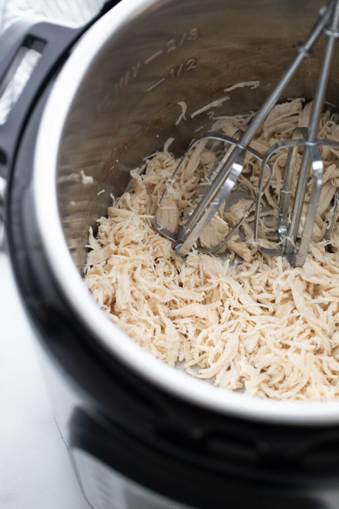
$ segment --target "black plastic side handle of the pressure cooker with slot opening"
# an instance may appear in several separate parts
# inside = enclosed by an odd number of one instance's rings
[[[116,3],[116,0],[106,2],[95,18],[79,28],[22,20],[10,26],[0,37],[0,97],[21,62],[22,51],[35,49],[41,53],[6,122],[0,125],[0,177],[6,178],[11,172],[22,130],[44,86],[66,60],[79,37]]]

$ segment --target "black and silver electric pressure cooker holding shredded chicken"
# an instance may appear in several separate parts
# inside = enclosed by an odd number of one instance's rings
[[[24,48],[41,53],[0,126],[7,243],[56,422],[95,509],[339,507],[339,402],[250,398],[172,369],[110,322],[82,281],[88,227],[110,193],[169,138],[179,155],[218,116],[258,109],[320,7],[122,0],[81,29],[21,22],[0,40],[1,92]],[[285,99],[313,97],[322,49],[320,39]],[[233,88],[249,81],[259,85]]]

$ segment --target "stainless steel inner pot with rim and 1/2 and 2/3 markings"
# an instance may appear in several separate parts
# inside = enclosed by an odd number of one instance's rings
[[[339,421],[339,402],[249,398],[170,369],[108,321],[81,272],[89,225],[106,214],[129,172],[162,149],[180,155],[213,117],[257,109],[318,16],[319,0],[122,0],[83,36],[61,70],[42,118],[34,192],[44,248],[66,298],[95,338],[132,370],[180,398],[220,412],[289,422]],[[285,97],[314,94],[321,39]],[[326,100],[336,108],[339,53]],[[259,86],[238,87],[255,81]],[[229,99],[227,99],[229,98]],[[199,112],[220,99],[220,106]],[[179,102],[186,119],[176,125]],[[81,183],[79,172],[92,176]],[[102,190],[98,195],[98,193]]]

